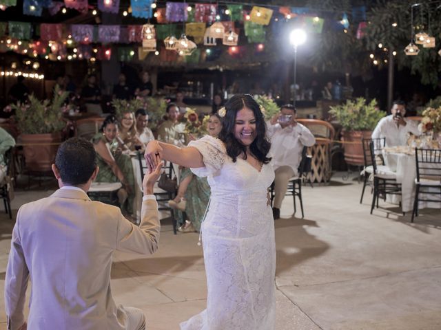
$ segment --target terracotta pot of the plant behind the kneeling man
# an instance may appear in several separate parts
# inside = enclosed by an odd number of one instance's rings
[[[35,172],[48,172],[55,162],[61,143],[61,132],[48,134],[21,134],[26,168]]]

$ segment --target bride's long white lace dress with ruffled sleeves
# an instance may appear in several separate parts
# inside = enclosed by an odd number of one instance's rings
[[[205,136],[190,142],[203,155],[211,203],[202,225],[207,309],[181,323],[181,330],[272,330],[275,319],[276,244],[267,188],[271,165],[260,172],[243,159],[233,162],[225,144]]]

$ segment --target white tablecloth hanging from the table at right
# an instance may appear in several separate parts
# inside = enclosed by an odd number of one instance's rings
[[[384,164],[396,173],[397,182],[401,184],[401,206],[402,212],[411,212],[413,210],[413,201],[416,192],[416,160],[415,155],[407,153],[389,153],[383,152]],[[392,203],[399,203],[398,198],[392,198]],[[420,194],[420,198],[424,198]],[[429,197],[433,198],[433,197]],[[441,208],[441,203],[429,203],[420,201],[418,208]]]

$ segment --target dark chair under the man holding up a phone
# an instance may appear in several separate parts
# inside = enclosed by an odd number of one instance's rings
[[[306,179],[306,177],[311,172],[311,162],[312,156],[307,155],[307,146],[303,147],[302,150],[302,160],[300,161],[300,165],[298,166],[298,175],[295,177],[291,177],[288,182],[288,188],[285,196],[292,196],[294,201],[294,214],[297,212],[296,208],[296,197],[298,197],[298,201],[300,202],[300,210],[302,211],[302,219],[305,217],[303,213],[303,201],[302,201],[302,180]],[[269,187],[269,194],[271,197],[271,205],[273,205],[274,201],[274,182]]]

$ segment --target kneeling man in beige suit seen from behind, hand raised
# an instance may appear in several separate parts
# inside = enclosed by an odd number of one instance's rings
[[[158,248],[153,186],[160,166],[144,177],[139,227],[119,208],[86,194],[99,170],[92,143],[72,138],[61,144],[52,170],[60,189],[21,206],[12,232],[5,281],[8,329],[26,329],[30,277],[28,329],[145,329],[141,310],[116,307],[110,270],[114,250],[152,254]]]

